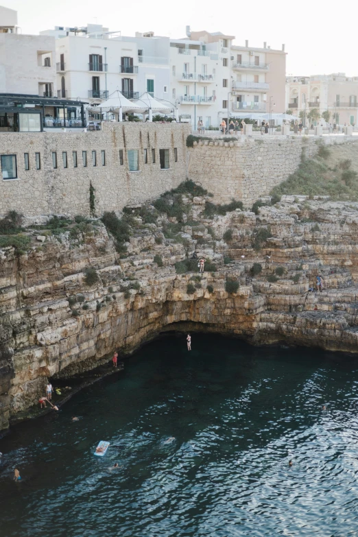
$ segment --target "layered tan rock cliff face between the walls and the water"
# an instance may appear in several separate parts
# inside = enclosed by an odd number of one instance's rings
[[[94,368],[165,329],[357,352],[357,204],[293,199],[259,215],[205,219],[203,203],[191,199],[181,242],[165,239],[159,225],[141,226],[126,259],[102,225],[75,242],[46,236],[27,254],[0,250],[0,429],[36,403],[49,377]],[[195,245],[217,272],[176,274]],[[99,280],[88,286],[89,266]],[[309,291],[318,275],[322,292]],[[228,278],[237,292],[226,292]]]

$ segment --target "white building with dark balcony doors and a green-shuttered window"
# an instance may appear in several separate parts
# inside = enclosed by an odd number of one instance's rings
[[[128,99],[138,99],[145,91],[169,97],[169,38],[152,32],[121,36],[96,24],[40,34],[56,38],[60,98],[100,104],[116,90]]]

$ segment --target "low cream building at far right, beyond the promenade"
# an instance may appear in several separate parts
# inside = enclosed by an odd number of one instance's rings
[[[286,108],[295,115],[307,115],[316,108],[320,115],[329,111],[329,123],[357,125],[358,77],[344,73],[291,76],[286,82]]]

